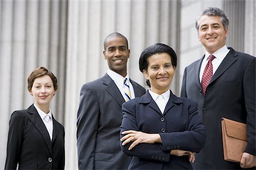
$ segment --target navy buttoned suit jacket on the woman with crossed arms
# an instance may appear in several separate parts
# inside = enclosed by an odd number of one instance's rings
[[[206,130],[195,101],[171,93],[162,114],[147,91],[142,97],[123,103],[122,110],[121,132],[159,133],[162,138],[162,143],[140,143],[130,151],[131,142],[125,146],[121,142],[122,151],[133,156],[128,169],[192,169],[188,156],[171,156],[170,152],[199,152],[204,146]]]

